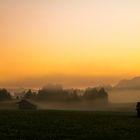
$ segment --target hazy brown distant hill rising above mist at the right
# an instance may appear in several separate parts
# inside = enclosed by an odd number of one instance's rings
[[[122,80],[114,88],[115,89],[140,89],[140,77],[135,77],[130,80]]]

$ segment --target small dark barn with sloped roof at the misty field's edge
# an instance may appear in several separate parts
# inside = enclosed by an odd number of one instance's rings
[[[18,102],[18,107],[21,110],[36,110],[37,106],[32,104],[30,101],[28,100],[21,100],[20,102]]]

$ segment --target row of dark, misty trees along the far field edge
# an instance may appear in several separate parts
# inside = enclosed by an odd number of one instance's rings
[[[80,89],[63,89],[61,85],[49,84],[38,92],[33,92],[31,89],[25,92],[23,97],[17,96],[17,99],[30,99],[48,102],[70,102],[70,101],[102,101],[108,102],[108,93],[104,88],[87,88],[83,93]],[[0,89],[0,100],[12,100],[10,92],[6,89]]]

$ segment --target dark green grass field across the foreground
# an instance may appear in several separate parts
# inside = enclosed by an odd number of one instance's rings
[[[0,111],[0,140],[140,140],[135,113]]]

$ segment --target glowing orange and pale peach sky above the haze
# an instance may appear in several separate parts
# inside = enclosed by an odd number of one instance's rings
[[[140,75],[139,0],[0,0],[0,81]]]

